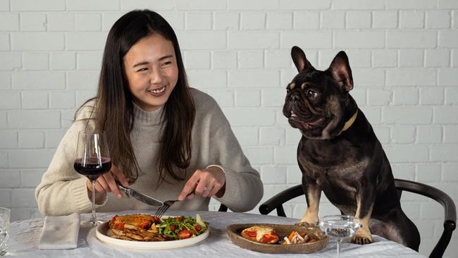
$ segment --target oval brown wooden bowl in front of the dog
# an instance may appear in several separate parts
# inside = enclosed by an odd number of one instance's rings
[[[240,233],[245,229],[252,226],[268,226],[273,228],[276,233],[280,236],[280,241],[283,242],[283,238],[292,231],[297,233],[306,233],[311,238],[316,238],[316,242],[306,242],[303,244],[294,245],[280,245],[280,244],[263,244],[261,242],[254,242],[243,238]],[[308,254],[311,252],[317,252],[322,250],[328,245],[328,236],[323,233],[320,228],[316,226],[296,226],[296,225],[280,225],[280,224],[268,224],[268,223],[242,223],[232,224],[226,228],[226,232],[229,235],[230,240],[242,248],[264,252],[268,254]]]

